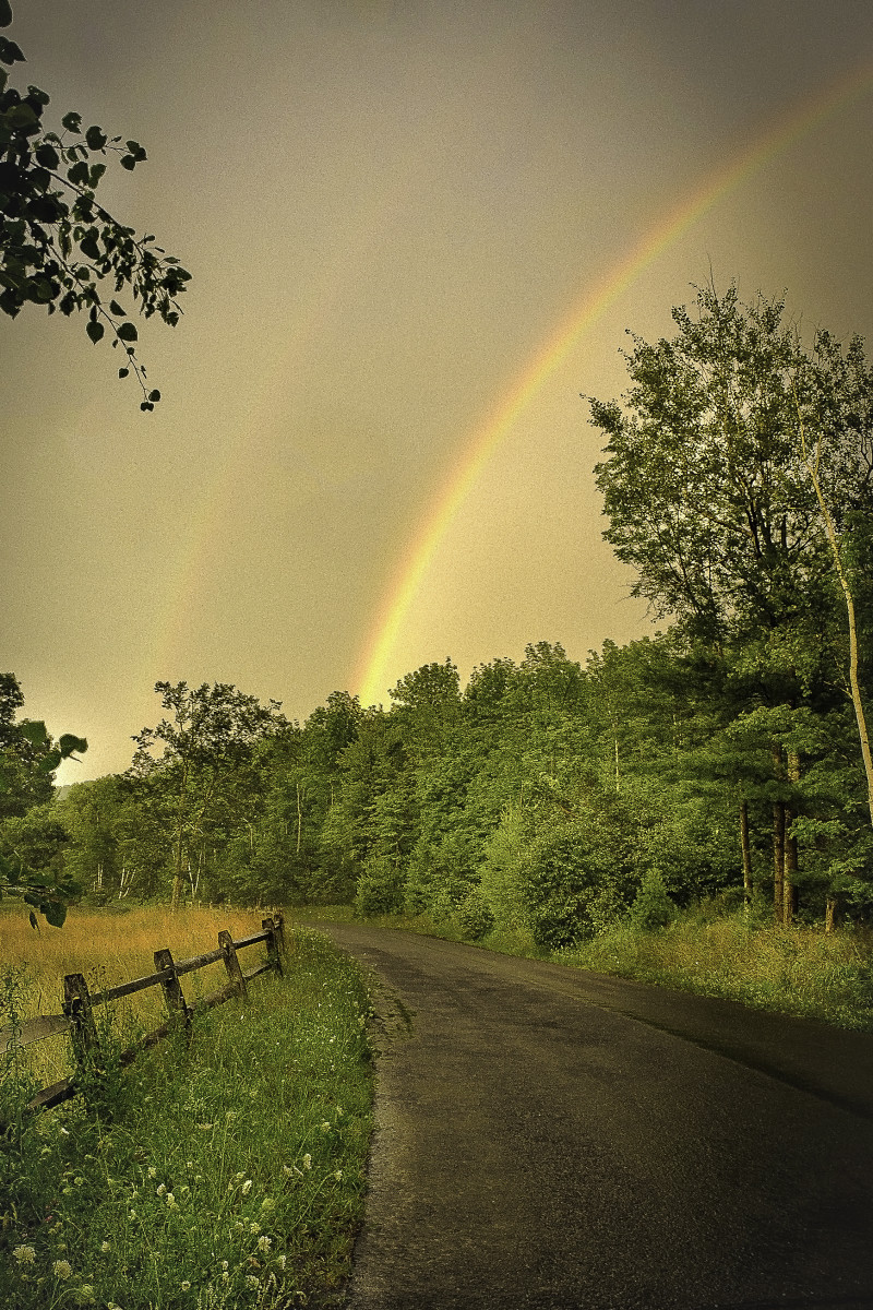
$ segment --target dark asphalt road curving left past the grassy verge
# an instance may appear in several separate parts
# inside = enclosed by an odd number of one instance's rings
[[[349,1310],[873,1310],[873,1038],[357,924]]]

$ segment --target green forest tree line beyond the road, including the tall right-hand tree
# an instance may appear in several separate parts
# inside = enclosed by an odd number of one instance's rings
[[[539,642],[463,688],[425,664],[387,707],[336,692],[302,726],[158,683],[126,773],[7,789],[7,857],[98,900],[353,901],[543,947],[652,886],[866,918],[873,375],[859,339],[805,348],[733,287],[674,320],[633,338],[622,401],[590,401],[605,536],[664,631],[584,665]],[[5,757],[20,730],[7,713]]]

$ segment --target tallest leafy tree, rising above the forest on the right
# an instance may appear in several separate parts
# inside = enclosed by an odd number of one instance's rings
[[[828,714],[849,693],[847,633],[840,554],[815,478],[843,525],[840,549],[864,548],[869,563],[873,381],[860,342],[844,355],[819,331],[810,355],[781,300],[743,305],[734,286],[724,296],[700,290],[696,313],[677,308],[673,318],[671,341],[633,338],[624,405],[590,401],[607,435],[596,469],[605,537],[637,570],[633,592],[721,665],[734,714]],[[813,417],[826,438],[810,460],[804,422]],[[804,761],[787,739],[774,738],[771,753],[787,795]],[[774,798],[785,916],[797,874],[787,806]]]

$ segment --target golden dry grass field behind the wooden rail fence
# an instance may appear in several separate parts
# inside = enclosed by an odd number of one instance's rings
[[[22,969],[24,1018],[60,1014],[64,973],[84,973],[89,990],[99,992],[128,979],[154,972],[156,950],[169,947],[177,960],[202,955],[217,946],[219,933],[228,929],[234,941],[260,931],[267,910],[179,909],[136,907],[130,912],[71,909],[63,927],[41,924],[33,929],[20,903],[7,901],[0,910],[0,962]],[[243,968],[263,955],[263,946],[241,954]],[[221,962],[187,973],[182,988],[188,1003],[226,981]],[[115,1002],[123,1024],[157,1027],[166,1018],[160,986],[137,992]],[[48,1038],[26,1048],[27,1062],[41,1086],[68,1073],[68,1043]]]

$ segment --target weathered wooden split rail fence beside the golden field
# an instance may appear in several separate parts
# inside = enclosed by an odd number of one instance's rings
[[[123,996],[132,996],[135,992],[144,992],[151,986],[161,986],[164,988],[164,1000],[169,1018],[158,1028],[140,1038],[135,1045],[122,1053],[120,1064],[122,1066],[127,1066],[134,1062],[140,1051],[147,1051],[149,1047],[156,1045],[162,1038],[178,1030],[179,1024],[190,1030],[191,1015],[195,1010],[211,1010],[213,1006],[221,1005],[234,996],[245,998],[247,996],[247,984],[251,979],[258,977],[259,973],[266,973],[268,969],[281,973],[281,959],[285,954],[285,929],[281,914],[274,914],[270,918],[262,920],[260,927],[260,933],[253,933],[251,937],[243,937],[238,942],[233,941],[230,933],[221,931],[219,933],[217,950],[207,951],[204,955],[195,955],[190,960],[174,960],[171,952],[165,947],[154,952],[154,973],[149,973],[141,979],[132,979],[130,982],[120,982],[118,986],[106,988],[105,992],[89,992],[81,973],[67,973],[64,976],[63,1014],[41,1014],[34,1019],[27,1019],[21,1024],[17,1035],[12,1028],[0,1030],[0,1055],[8,1051],[14,1041],[20,1047],[25,1047],[31,1041],[42,1041],[45,1038],[68,1034],[76,1064],[79,1066],[86,1061],[93,1064],[99,1057],[99,1043],[93,1013],[94,1006],[105,1005],[107,1001],[118,1001]],[[258,942],[266,942],[267,959],[254,968],[243,971],[237,952],[246,946],[255,946]],[[208,996],[200,997],[194,1006],[190,1006],[182,993],[179,979],[185,973],[203,969],[217,960],[224,960],[225,969],[228,971],[226,984],[219,988],[217,992],[211,992]],[[72,1078],[63,1078],[60,1082],[52,1083],[51,1087],[43,1087],[42,1091],[38,1091],[33,1100],[29,1102],[29,1108],[50,1110],[52,1106],[59,1106],[62,1102],[69,1100],[71,1096],[76,1095],[77,1090],[75,1076]]]

